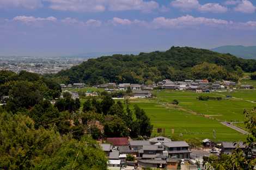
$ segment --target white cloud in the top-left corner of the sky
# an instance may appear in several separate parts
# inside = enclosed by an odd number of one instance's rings
[[[27,8],[35,9],[42,7],[41,0],[0,0],[0,8]]]

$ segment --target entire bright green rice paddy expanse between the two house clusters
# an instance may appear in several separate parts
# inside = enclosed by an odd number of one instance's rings
[[[153,92],[155,99],[131,100],[143,108],[157,128],[165,128],[165,135],[181,135],[183,138],[210,138],[214,141],[245,140],[246,136],[222,125],[222,121],[244,121],[243,110],[251,109],[256,103],[245,99],[226,99],[230,92],[196,93],[192,91],[159,90]],[[249,94],[249,95],[248,95]],[[222,100],[199,101],[200,95],[223,97]],[[256,91],[231,92],[233,97],[253,99]],[[174,99],[179,100],[178,106],[170,105]],[[244,128],[243,123],[235,125]],[[214,137],[215,131],[215,137]]]

